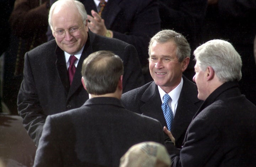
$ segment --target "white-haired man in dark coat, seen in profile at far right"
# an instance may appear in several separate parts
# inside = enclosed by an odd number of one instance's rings
[[[239,90],[240,55],[229,42],[210,40],[194,56],[193,80],[204,102],[180,153],[171,155],[172,166],[256,166],[256,106]]]

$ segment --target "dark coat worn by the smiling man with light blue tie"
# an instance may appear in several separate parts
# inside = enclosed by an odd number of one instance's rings
[[[181,148],[187,127],[202,103],[197,98],[196,85],[185,76],[182,76],[182,78],[183,86],[171,127],[177,148]],[[162,101],[158,86],[154,81],[122,94],[121,100],[128,110],[157,119],[162,124],[162,127],[167,127],[161,108]],[[166,139],[169,139],[167,135]],[[168,151],[170,152],[171,150]]]

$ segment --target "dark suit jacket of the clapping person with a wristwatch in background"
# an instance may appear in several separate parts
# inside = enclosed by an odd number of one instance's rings
[[[56,0],[50,0],[53,4]],[[94,0],[81,1],[88,15],[97,12]],[[106,28],[113,31],[113,38],[135,46],[142,65],[148,63],[148,44],[160,30],[160,16],[156,0],[108,0],[101,17]],[[53,39],[48,28],[48,39]]]

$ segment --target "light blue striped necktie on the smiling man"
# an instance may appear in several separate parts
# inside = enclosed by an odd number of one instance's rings
[[[165,121],[166,121],[167,128],[169,131],[171,131],[172,120],[174,119],[172,110],[171,110],[170,106],[168,105],[168,101],[170,99],[171,99],[171,97],[168,94],[165,94],[164,102],[162,103],[162,110],[164,112]]]

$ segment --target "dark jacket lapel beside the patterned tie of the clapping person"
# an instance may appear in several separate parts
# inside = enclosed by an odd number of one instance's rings
[[[113,22],[115,21],[118,13],[121,11],[121,1],[122,0],[108,0],[102,12],[102,18],[105,20],[107,29],[111,29]]]

